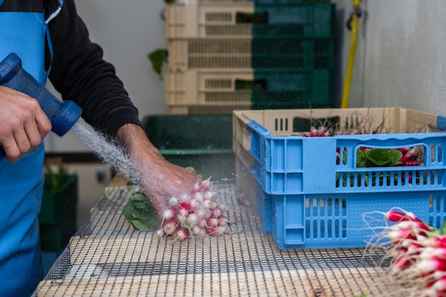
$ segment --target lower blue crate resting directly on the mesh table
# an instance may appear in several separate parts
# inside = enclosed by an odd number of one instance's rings
[[[441,228],[446,216],[446,191],[273,195],[259,183],[256,191],[263,232],[271,234],[281,250],[365,247],[375,236],[372,228],[383,226],[382,221],[363,221],[371,211],[386,212],[398,206],[435,228]]]

